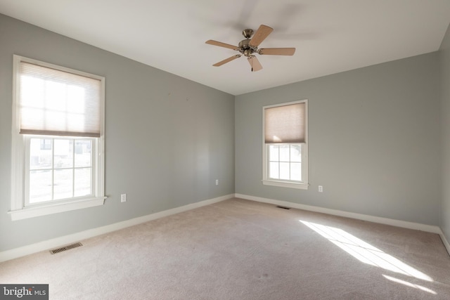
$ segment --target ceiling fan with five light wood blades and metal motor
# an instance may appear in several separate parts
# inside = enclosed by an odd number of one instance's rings
[[[242,41],[239,42],[238,46],[233,46],[230,44],[222,43],[221,41],[213,41],[212,39],[206,41],[206,44],[220,46],[224,48],[230,48],[235,51],[239,51],[242,54],[236,54],[231,56],[230,58],[226,58],[224,60],[219,61],[219,63],[214,63],[214,67],[219,67],[226,63],[231,62],[231,60],[235,60],[236,58],[240,58],[240,56],[247,56],[248,62],[252,67],[252,72],[256,72],[262,69],[261,63],[255,56],[255,53],[259,55],[270,55],[270,56],[293,56],[295,53],[295,48],[260,48],[258,49],[259,44],[269,36],[269,34],[274,29],[266,26],[260,25],[258,30],[253,34],[253,30],[246,29],[243,30],[242,34],[245,37]],[[253,37],[252,37],[253,36]],[[250,39],[252,37],[252,39]]]

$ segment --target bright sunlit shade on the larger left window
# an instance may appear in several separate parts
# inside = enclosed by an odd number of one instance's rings
[[[20,62],[20,133],[101,136],[101,80]]]

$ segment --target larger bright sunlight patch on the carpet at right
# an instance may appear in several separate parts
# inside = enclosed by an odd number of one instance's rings
[[[430,276],[420,272],[420,270],[399,261],[399,259],[373,247],[371,244],[364,242],[364,240],[360,240],[358,237],[347,233],[345,230],[302,220],[300,220],[300,222],[304,223],[304,225],[316,231],[316,233],[319,233],[319,235],[322,235],[330,242],[333,242],[333,244],[363,263],[418,278],[420,280],[433,281]]]

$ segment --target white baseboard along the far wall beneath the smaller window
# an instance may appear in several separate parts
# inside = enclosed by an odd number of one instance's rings
[[[392,226],[397,226],[397,227],[401,227],[401,228],[409,228],[409,229],[425,231],[428,233],[437,233],[439,235],[443,235],[442,230],[441,230],[441,228],[439,228],[439,226],[432,226],[432,225],[413,223],[413,222],[407,222],[407,221],[399,221],[399,220],[394,220],[394,219],[383,218],[380,216],[370,216],[367,214],[356,214],[353,212],[340,211],[337,209],[326,209],[323,207],[314,207],[311,205],[297,204],[297,203],[288,202],[288,201],[274,200],[274,199],[268,199],[268,198],[262,198],[262,197],[254,197],[254,196],[249,196],[249,195],[235,194],[235,196],[236,196],[236,198],[242,198],[245,200],[270,203],[270,204],[275,204],[275,205],[281,205],[283,207],[292,207],[295,209],[303,209],[303,210],[307,210],[307,211],[315,211],[315,212],[320,212],[323,214],[332,214],[334,216],[344,216],[346,218],[351,218],[351,219],[370,221],[373,223],[381,223],[381,224],[392,225]]]

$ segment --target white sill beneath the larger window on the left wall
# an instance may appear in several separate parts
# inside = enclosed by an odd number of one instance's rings
[[[11,215],[12,221],[34,218],[36,216],[45,216],[47,214],[57,214],[63,211],[72,211],[75,209],[84,209],[87,207],[97,207],[105,203],[106,197],[96,197],[83,199],[72,202],[60,202],[54,204],[47,204],[41,207],[24,207],[23,209],[17,209],[8,211]]]

